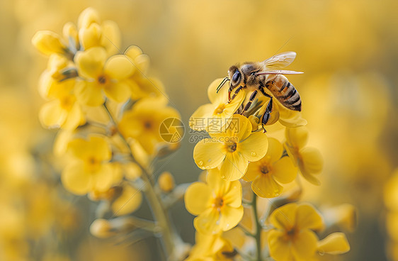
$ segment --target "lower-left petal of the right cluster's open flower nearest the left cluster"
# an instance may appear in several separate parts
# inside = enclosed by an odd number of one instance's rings
[[[214,209],[207,209],[193,220],[193,226],[199,233],[215,234],[221,231],[220,213]]]

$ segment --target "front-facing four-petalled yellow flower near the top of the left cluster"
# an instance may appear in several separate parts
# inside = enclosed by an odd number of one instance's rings
[[[101,47],[78,52],[74,57],[79,75],[85,79],[76,86],[76,96],[83,104],[103,104],[103,92],[117,102],[130,97],[125,79],[134,72],[134,66],[124,55],[114,55],[108,60],[106,57],[106,50]]]

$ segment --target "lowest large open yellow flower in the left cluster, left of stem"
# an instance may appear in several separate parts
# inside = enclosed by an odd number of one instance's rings
[[[118,165],[110,163],[112,151],[106,139],[90,135],[89,140],[76,138],[69,142],[72,162],[62,172],[62,184],[74,194],[106,191],[120,181]]]

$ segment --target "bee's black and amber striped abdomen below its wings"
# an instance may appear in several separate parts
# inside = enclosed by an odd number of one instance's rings
[[[268,80],[266,87],[283,106],[293,111],[301,111],[300,94],[288,81],[288,78],[279,74]]]

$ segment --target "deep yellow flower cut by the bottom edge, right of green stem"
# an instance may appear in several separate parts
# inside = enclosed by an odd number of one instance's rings
[[[324,228],[320,214],[309,204],[286,204],[270,216],[268,247],[275,261],[309,260],[317,251],[314,231]]]

